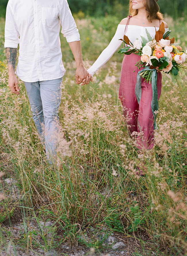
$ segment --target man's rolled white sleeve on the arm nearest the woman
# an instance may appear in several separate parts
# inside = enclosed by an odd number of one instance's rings
[[[62,1],[59,18],[62,26],[61,32],[64,37],[66,37],[67,42],[80,41],[79,30],[77,29],[77,25],[66,0]]]

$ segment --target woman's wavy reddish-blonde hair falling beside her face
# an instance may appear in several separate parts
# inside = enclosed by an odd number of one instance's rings
[[[146,7],[146,11],[148,13],[148,21],[152,22],[152,20],[163,20],[163,15],[160,12],[157,12],[158,5],[155,0],[143,0],[144,6]],[[132,9],[132,0],[129,0],[129,14],[135,16],[138,14],[138,10]]]

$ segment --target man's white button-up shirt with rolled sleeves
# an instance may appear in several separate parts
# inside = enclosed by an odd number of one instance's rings
[[[24,82],[61,78],[60,24],[67,42],[79,41],[79,31],[67,0],[9,0],[5,48],[18,48],[16,75]]]

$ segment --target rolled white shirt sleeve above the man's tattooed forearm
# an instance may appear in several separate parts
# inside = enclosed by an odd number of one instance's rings
[[[20,42],[19,32],[14,20],[14,14],[11,5],[7,4],[5,19],[5,48],[18,48]]]

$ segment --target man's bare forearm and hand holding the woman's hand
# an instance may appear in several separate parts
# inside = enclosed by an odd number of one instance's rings
[[[82,51],[81,51],[81,43],[80,41],[74,41],[68,43],[70,46],[70,49],[73,53],[73,56],[75,58],[76,64],[77,64],[77,70],[75,74],[76,78],[76,84],[82,83],[89,84],[89,81],[92,81],[91,75],[88,74],[87,70],[85,69],[83,65],[83,58],[82,58]]]

